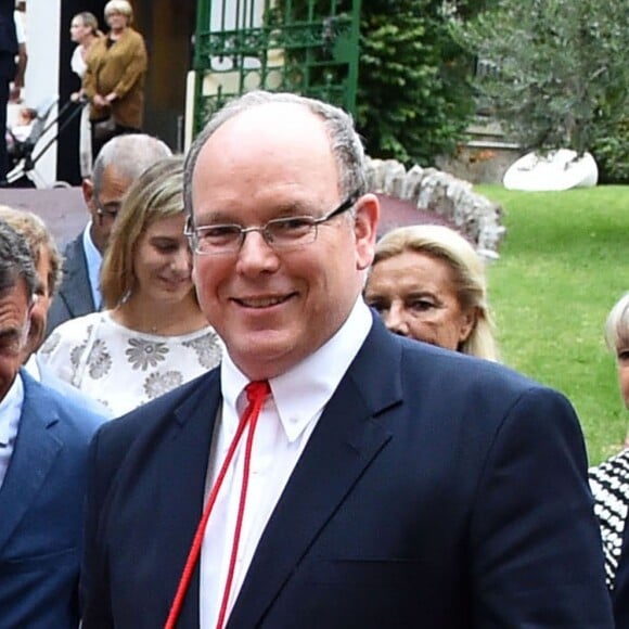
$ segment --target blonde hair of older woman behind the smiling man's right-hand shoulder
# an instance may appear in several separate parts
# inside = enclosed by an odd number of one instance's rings
[[[418,252],[444,260],[453,272],[461,307],[476,310],[474,329],[459,351],[487,360],[500,360],[493,317],[487,298],[485,266],[474,247],[448,227],[415,224],[397,228],[377,243],[372,268],[405,252]]]

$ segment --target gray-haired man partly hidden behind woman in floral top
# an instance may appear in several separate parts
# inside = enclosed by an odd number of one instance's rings
[[[101,149],[91,180],[82,181],[90,221],[65,248],[63,280],[48,313],[47,336],[64,321],[100,309],[101,264],[123,198],[149,166],[171,154],[162,140],[144,133],[118,136]]]

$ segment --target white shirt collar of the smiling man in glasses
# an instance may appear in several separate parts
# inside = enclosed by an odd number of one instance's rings
[[[359,296],[349,317],[330,341],[288,372],[269,381],[288,441],[294,441],[321,414],[356,358],[371,325],[371,312]],[[248,378],[226,352],[221,362],[221,391],[224,403],[236,409],[234,416],[240,416],[245,407],[242,394],[247,384]]]

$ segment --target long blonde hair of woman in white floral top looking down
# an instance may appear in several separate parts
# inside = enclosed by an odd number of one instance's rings
[[[149,226],[178,214],[183,214],[182,156],[167,157],[150,166],[125,195],[101,269],[105,308],[115,308],[133,290],[133,256]]]

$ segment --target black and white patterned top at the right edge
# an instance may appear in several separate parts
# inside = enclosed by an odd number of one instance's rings
[[[591,467],[589,476],[594,513],[603,538],[605,578],[607,587],[613,590],[629,512],[629,450]]]

